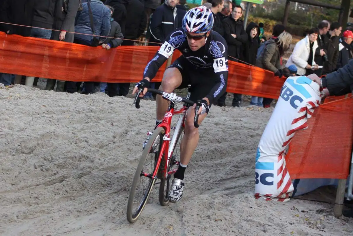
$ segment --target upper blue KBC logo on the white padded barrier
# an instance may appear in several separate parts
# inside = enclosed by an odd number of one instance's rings
[[[310,85],[312,82],[312,80],[310,80],[306,76],[300,76],[296,81],[294,81],[293,79],[287,79],[286,82],[290,84],[295,90],[297,90],[305,98],[312,97],[311,94],[303,86],[304,84]],[[281,88],[280,94],[281,94],[281,98],[286,102],[289,101],[289,104],[291,104],[291,107],[293,107],[294,109],[297,109],[299,104],[303,102],[303,98],[301,98],[300,96],[298,95],[293,96],[294,92],[287,85],[283,85],[283,87]],[[297,101],[299,102],[299,104],[296,103]]]

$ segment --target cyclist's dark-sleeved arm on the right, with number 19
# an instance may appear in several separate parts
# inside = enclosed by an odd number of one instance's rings
[[[222,94],[226,92],[227,89],[228,46],[224,39],[219,41],[221,41],[221,44],[219,44],[219,46],[224,47],[224,50],[223,48],[218,48],[223,53],[221,53],[221,55],[219,55],[218,57],[214,58],[213,61],[213,69],[215,72],[215,77],[218,78],[218,81],[206,96],[210,104],[212,104],[214,100],[218,100],[222,96]]]

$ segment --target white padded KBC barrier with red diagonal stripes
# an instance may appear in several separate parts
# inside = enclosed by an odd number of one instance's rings
[[[320,86],[306,76],[288,77],[260,139],[255,163],[255,196],[286,201],[294,190],[286,167],[288,145],[321,102]]]

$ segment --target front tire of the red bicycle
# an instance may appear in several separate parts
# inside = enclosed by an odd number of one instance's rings
[[[159,146],[159,150],[158,150],[158,155],[160,154],[164,134],[165,134],[165,131],[162,127],[156,128],[153,131],[153,134],[150,136],[148,143],[146,144],[146,147],[143,150],[142,155],[140,157],[140,161],[139,161],[138,166],[136,168],[136,172],[135,172],[135,175],[134,175],[134,178],[132,181],[132,185],[131,185],[131,189],[130,189],[130,195],[129,195],[128,202],[127,202],[126,218],[130,223],[135,223],[136,220],[138,219],[138,217],[140,216],[140,214],[142,213],[143,208],[145,207],[146,202],[148,200],[148,197],[151,193],[151,190],[156,182],[156,179],[150,178],[148,188],[145,190],[145,193],[144,193],[144,197],[143,197],[142,201],[140,202],[136,213],[133,214],[132,208],[133,208],[133,199],[135,196],[136,186],[139,182],[139,178],[140,178],[143,166],[145,164],[146,158],[147,158],[148,154],[150,154],[150,149],[151,149],[152,145],[154,144],[154,141],[158,137],[158,135],[160,135],[160,146]],[[155,168],[156,168],[156,162],[155,162],[154,169]]]

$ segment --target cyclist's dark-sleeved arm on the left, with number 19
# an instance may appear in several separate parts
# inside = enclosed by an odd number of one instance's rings
[[[146,65],[143,77],[148,77],[152,80],[156,76],[158,69],[173,54],[176,46],[173,43],[173,45],[171,45],[168,42],[173,33],[174,31],[167,36],[166,41],[164,41],[163,45],[159,48],[153,59]]]

